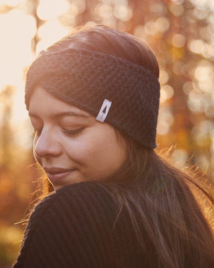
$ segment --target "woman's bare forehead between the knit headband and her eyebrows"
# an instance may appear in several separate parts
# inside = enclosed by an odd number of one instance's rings
[[[57,99],[41,86],[35,87],[32,93],[29,101],[29,116],[48,116],[51,118],[74,116],[82,119],[95,119],[95,116],[87,111]]]

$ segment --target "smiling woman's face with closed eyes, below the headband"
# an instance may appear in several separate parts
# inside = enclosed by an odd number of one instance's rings
[[[57,190],[87,180],[102,180],[118,169],[127,155],[111,124],[56,99],[37,86],[29,102],[36,132],[34,157]]]

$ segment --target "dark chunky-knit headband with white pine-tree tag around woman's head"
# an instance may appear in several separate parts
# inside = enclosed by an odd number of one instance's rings
[[[27,110],[37,84],[97,120],[112,124],[144,147],[157,147],[160,83],[142,66],[85,49],[43,50],[27,71]]]

